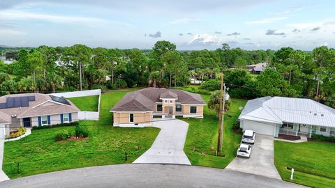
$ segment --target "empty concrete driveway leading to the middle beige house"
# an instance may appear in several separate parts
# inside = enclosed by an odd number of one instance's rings
[[[133,163],[191,165],[184,152],[188,123],[177,119],[158,119],[151,126],[160,128],[161,132],[151,148]]]

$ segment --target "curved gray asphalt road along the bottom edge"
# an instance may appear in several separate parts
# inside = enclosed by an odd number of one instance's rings
[[[301,187],[239,171],[170,164],[119,164],[32,175],[0,187]]]

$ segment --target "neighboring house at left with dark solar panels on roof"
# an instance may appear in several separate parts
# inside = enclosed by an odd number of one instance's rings
[[[63,97],[24,93],[0,97],[0,138],[17,127],[34,127],[77,121],[75,105]],[[6,127],[3,129],[3,127]]]

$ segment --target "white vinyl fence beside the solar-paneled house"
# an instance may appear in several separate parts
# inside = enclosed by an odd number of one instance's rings
[[[101,90],[84,90],[84,91],[72,91],[72,92],[64,92],[64,93],[50,93],[49,95],[54,95],[57,97],[87,97],[93,95],[99,95],[98,101],[98,111],[79,111],[78,112],[78,119],[79,120],[99,120],[99,113],[100,113],[100,100],[101,100]]]

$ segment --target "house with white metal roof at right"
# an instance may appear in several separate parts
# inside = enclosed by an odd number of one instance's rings
[[[248,100],[239,116],[244,130],[278,136],[335,136],[335,109],[310,99],[260,97]]]

